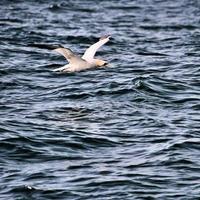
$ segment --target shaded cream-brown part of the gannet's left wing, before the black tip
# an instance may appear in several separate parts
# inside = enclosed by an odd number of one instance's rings
[[[70,64],[77,63],[80,61],[84,61],[81,57],[74,54],[70,49],[67,48],[57,48],[54,51],[63,55]]]

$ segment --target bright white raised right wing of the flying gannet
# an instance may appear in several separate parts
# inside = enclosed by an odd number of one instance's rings
[[[91,45],[88,49],[86,49],[84,55],[82,56],[82,58],[84,60],[86,60],[87,62],[92,62],[94,59],[94,55],[96,53],[96,51],[105,43],[107,43],[109,41],[110,35],[106,35],[100,38],[100,40],[98,42],[96,42],[95,44]]]

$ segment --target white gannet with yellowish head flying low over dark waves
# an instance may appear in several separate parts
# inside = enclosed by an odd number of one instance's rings
[[[57,69],[54,69],[54,72],[77,72],[82,71],[89,68],[94,67],[102,67],[108,64],[104,60],[95,59],[95,53],[96,51],[105,43],[109,41],[110,35],[103,36],[99,39],[98,42],[91,45],[88,49],[86,49],[85,53],[82,57],[74,54],[70,49],[68,48],[56,48],[54,51],[60,53],[63,55],[69,64],[64,65],[63,67],[59,67]]]

